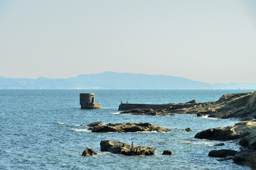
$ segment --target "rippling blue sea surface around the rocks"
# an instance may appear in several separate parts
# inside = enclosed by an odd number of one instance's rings
[[[0,169],[249,169],[233,160],[208,157],[213,149],[240,150],[237,141],[198,140],[197,132],[233,125],[239,120],[196,115],[121,115],[129,103],[217,101],[223,94],[251,90],[0,90]],[[80,109],[79,94],[95,93],[102,109]],[[87,123],[154,123],[171,132],[92,133]],[[191,128],[192,132],[183,132]],[[156,147],[154,156],[129,157],[100,152],[101,140]],[[85,147],[99,153],[82,157]],[[163,156],[165,149],[173,156]]]

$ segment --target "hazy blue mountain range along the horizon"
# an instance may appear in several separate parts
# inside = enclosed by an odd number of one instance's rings
[[[0,77],[0,89],[256,89],[256,83],[208,84],[182,77],[104,72],[68,79]]]

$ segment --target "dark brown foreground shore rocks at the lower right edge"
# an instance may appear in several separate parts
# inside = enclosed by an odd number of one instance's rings
[[[244,147],[240,152],[228,151],[225,149],[214,150],[209,156],[215,157],[234,156],[232,159],[236,164],[242,164],[256,168],[256,120],[242,121],[228,127],[211,128],[203,130],[195,135],[198,139],[207,140],[239,140],[239,144]],[[225,153],[223,154],[223,151]],[[230,154],[232,152],[232,154]]]

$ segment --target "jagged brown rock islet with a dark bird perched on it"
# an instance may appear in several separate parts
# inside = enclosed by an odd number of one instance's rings
[[[134,146],[123,142],[102,140],[100,142],[102,152],[112,152],[114,154],[124,154],[127,156],[149,156],[153,155],[156,147]]]

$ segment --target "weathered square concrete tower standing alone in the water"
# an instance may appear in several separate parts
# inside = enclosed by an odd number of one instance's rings
[[[102,108],[99,103],[95,103],[95,94],[80,94],[81,108]]]

